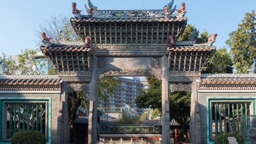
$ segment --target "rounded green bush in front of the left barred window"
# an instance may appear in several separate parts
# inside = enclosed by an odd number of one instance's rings
[[[46,144],[46,137],[39,131],[20,131],[11,138],[11,144]]]

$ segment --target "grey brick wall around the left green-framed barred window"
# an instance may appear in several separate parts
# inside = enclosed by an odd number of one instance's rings
[[[52,124],[51,124],[51,144],[57,144],[57,123],[59,115],[60,93],[0,93],[0,98],[52,98]]]

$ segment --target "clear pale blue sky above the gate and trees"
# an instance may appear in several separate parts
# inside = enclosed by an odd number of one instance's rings
[[[163,9],[171,0],[91,0],[99,10]],[[256,10],[256,0],[175,0],[186,3],[188,24],[201,32],[218,33],[215,46],[226,46],[228,34],[237,29],[245,13]],[[72,2],[86,14],[87,0],[0,0],[0,50],[16,55],[21,49],[36,49],[38,24],[51,16],[72,17]]]

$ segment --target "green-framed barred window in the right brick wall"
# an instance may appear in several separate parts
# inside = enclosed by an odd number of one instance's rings
[[[243,99],[243,101],[240,98],[222,98],[223,100],[214,97],[207,98],[208,142],[213,142],[216,137],[227,132],[244,133],[248,131],[252,120],[249,115],[254,115],[255,98]]]

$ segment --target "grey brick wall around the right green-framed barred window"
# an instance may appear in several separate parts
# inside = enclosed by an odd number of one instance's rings
[[[256,97],[256,92],[198,92],[198,103],[201,120],[201,144],[207,144],[207,97]]]

